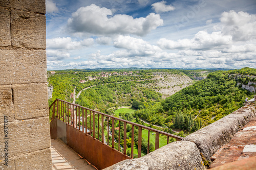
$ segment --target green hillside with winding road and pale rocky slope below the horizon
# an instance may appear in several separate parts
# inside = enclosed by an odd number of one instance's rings
[[[73,102],[74,92],[76,96],[80,92],[77,104],[103,112],[134,100],[160,102],[193,83],[181,70],[173,69],[49,71],[49,105],[57,98]]]

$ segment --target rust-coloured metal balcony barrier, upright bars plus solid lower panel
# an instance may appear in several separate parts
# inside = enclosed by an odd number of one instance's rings
[[[150,153],[152,141],[157,150],[160,139],[165,139],[165,144],[183,139],[59,99],[49,107],[49,116],[51,139],[60,139],[98,169],[133,159],[134,155],[140,158]],[[127,128],[131,130],[127,131]],[[147,139],[142,138],[142,134]],[[127,138],[131,139],[131,143],[127,143]]]

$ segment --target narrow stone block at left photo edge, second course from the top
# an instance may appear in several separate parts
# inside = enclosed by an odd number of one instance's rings
[[[10,11],[0,7],[0,46],[11,45]]]

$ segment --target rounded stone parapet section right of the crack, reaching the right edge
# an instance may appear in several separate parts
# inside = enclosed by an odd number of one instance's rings
[[[196,143],[203,159],[210,162],[210,157],[228,143],[233,135],[249,122],[250,118],[255,116],[255,106],[248,104],[217,122],[186,136],[183,140]]]

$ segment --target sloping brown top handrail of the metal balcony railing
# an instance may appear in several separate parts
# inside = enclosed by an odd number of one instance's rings
[[[56,100],[63,101],[63,100],[60,100],[60,99],[56,99]],[[63,102],[66,102],[66,103],[69,103],[71,105],[74,105],[74,106],[77,106],[77,107],[80,107],[80,108],[84,108],[84,109],[93,111],[95,113],[102,114],[102,115],[104,115],[106,117],[110,117],[110,118],[114,118],[116,120],[120,120],[122,122],[126,122],[127,124],[130,124],[130,125],[134,125],[134,126],[142,127],[143,129],[146,129],[146,130],[158,132],[158,133],[160,133],[162,135],[165,135],[165,136],[169,136],[169,137],[176,138],[176,139],[179,139],[179,140],[183,139],[183,137],[180,137],[180,136],[177,136],[177,135],[173,135],[173,134],[170,134],[170,133],[167,133],[167,132],[163,132],[163,131],[160,131],[160,130],[157,130],[157,129],[154,129],[154,128],[150,128],[150,127],[147,127],[147,126],[143,126],[143,125],[140,125],[140,124],[136,124],[136,123],[133,123],[133,122],[129,122],[128,120],[124,120],[124,119],[121,119],[121,118],[118,118],[118,117],[114,117],[114,116],[111,116],[109,114],[101,113],[99,111],[92,110],[92,109],[89,109],[89,108],[86,108],[86,107],[83,107],[83,106],[80,106],[80,105],[77,105],[77,104],[74,104],[74,103],[70,103],[70,102],[67,102],[67,101],[63,101]]]

